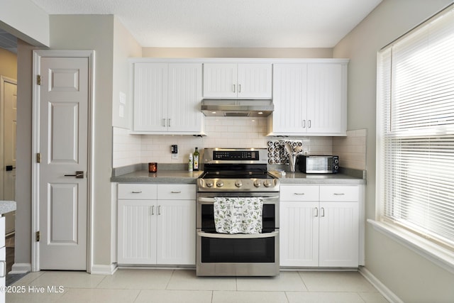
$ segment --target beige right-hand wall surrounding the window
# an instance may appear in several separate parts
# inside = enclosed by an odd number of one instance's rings
[[[377,51],[452,0],[384,0],[334,48],[348,57],[348,129],[367,130],[367,218],[375,219]],[[453,302],[454,275],[366,226],[366,269],[404,302]]]

